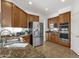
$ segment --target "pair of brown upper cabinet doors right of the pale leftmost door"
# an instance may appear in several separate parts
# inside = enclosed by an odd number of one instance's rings
[[[13,5],[12,27],[27,27],[27,13]]]

